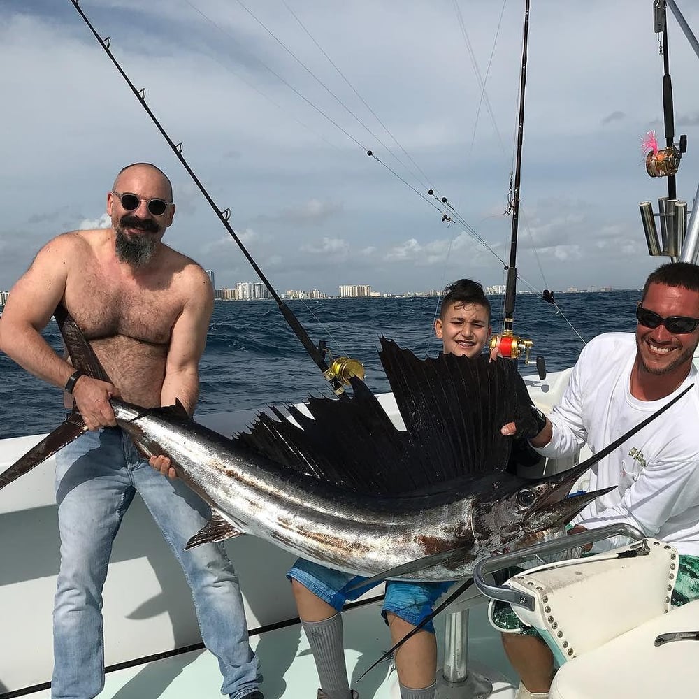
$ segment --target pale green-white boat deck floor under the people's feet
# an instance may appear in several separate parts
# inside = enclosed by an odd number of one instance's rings
[[[498,635],[488,624],[485,612],[486,605],[479,605],[470,611],[469,665],[473,661],[476,670],[493,680],[491,696],[510,699],[514,696],[514,691],[506,680],[514,681],[515,673],[505,658]],[[389,633],[380,617],[380,601],[347,610],[344,618],[347,667],[361,699],[397,699],[396,672],[389,661],[377,665],[361,682],[356,681],[388,647]],[[440,640],[440,658],[444,626],[444,617],[440,615],[435,620]],[[317,675],[301,626],[293,624],[264,633],[253,633],[250,642],[261,661],[264,673],[261,689],[266,699],[315,699]],[[489,670],[485,670],[484,666]],[[105,688],[99,698],[214,699],[221,696],[220,678],[216,658],[206,649],[196,649],[108,671]],[[1,694],[0,698],[17,696],[50,699],[51,691],[17,691]],[[458,687],[440,686],[438,696],[440,699],[456,699],[464,695]]]

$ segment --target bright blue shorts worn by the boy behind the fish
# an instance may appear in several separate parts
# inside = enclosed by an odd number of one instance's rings
[[[352,592],[346,592],[345,590],[349,587],[366,580],[366,577],[326,568],[324,565],[305,559],[298,559],[293,568],[287,572],[287,577],[300,582],[338,612],[347,600],[356,600],[363,593],[380,584],[380,582],[376,582]],[[408,624],[417,626],[428,614],[431,614],[435,602],[451,586],[451,582],[387,580],[384,606],[381,611],[382,617],[386,619],[386,613],[390,612],[407,621]],[[428,621],[423,628],[430,633],[435,633],[431,621]]]

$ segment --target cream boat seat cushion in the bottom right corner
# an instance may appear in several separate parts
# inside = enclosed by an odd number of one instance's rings
[[[699,630],[699,600],[646,621],[565,663],[549,699],[660,699],[697,696],[699,641],[654,645],[661,633]]]

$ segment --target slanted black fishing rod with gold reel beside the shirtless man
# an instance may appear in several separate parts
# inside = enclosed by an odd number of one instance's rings
[[[363,379],[364,377],[364,368],[361,365],[361,362],[359,362],[356,359],[351,359],[349,357],[338,357],[338,359],[333,360],[331,364],[328,363],[327,359],[332,359],[332,357],[329,349],[327,349],[326,347],[326,344],[323,340],[319,342],[317,346],[313,344],[312,340],[308,336],[308,333],[301,325],[301,322],[298,320],[296,315],[294,315],[294,312],[291,310],[291,308],[289,308],[289,306],[286,303],[284,303],[284,301],[282,301],[282,298],[280,298],[279,294],[277,294],[274,287],[266,278],[261,268],[259,268],[257,262],[254,261],[250,252],[247,251],[245,245],[243,245],[243,242],[236,235],[236,231],[234,231],[231,227],[231,224],[229,224],[229,219],[231,217],[230,208],[226,208],[223,211],[219,209],[215,201],[207,192],[206,187],[204,187],[204,185],[196,176],[192,168],[189,166],[189,163],[187,163],[187,160],[185,159],[184,155],[182,155],[182,143],[180,142],[175,144],[175,142],[172,140],[172,138],[170,138],[162,124],[159,122],[158,118],[154,115],[153,111],[147,105],[145,101],[145,87],[143,87],[140,90],[136,89],[134,83],[131,82],[129,76],[127,75],[127,73],[124,72],[124,69],[122,69],[122,66],[120,66],[119,62],[111,52],[110,38],[108,36],[102,38],[98,34],[92,22],[89,21],[87,15],[85,15],[85,13],[82,11],[82,8],[80,7],[80,0],[71,0],[71,3],[73,3],[73,7],[75,8],[75,10],[78,11],[78,14],[80,15],[80,17],[82,17],[82,20],[85,22],[85,24],[87,24],[89,30],[92,31],[94,37],[97,39],[97,41],[99,41],[99,44],[106,52],[110,61],[114,64],[117,71],[119,71],[122,78],[124,78],[127,85],[129,85],[129,88],[131,88],[131,92],[134,93],[140,105],[143,107],[143,109],[145,109],[147,115],[150,117],[157,129],[160,131],[163,138],[165,138],[172,152],[175,154],[175,157],[177,157],[180,163],[182,163],[182,166],[184,166],[185,170],[189,174],[189,177],[192,178],[194,184],[199,188],[199,191],[201,192],[201,194],[203,194],[204,199],[208,201],[209,206],[214,210],[215,214],[219,218],[219,221],[224,225],[226,231],[229,232],[231,238],[233,238],[233,240],[235,240],[236,243],[238,243],[238,247],[240,247],[240,250],[247,258],[247,261],[250,262],[250,265],[257,273],[265,287],[267,287],[267,290],[270,292],[272,298],[274,298],[274,300],[277,302],[277,305],[279,306],[279,309],[282,312],[284,319],[291,327],[291,330],[294,331],[296,337],[299,340],[301,340],[301,344],[305,348],[306,352],[308,352],[310,358],[316,363],[318,368],[321,370],[326,381],[329,382],[333,393],[336,394],[336,396],[338,396],[339,398],[347,400],[348,396],[347,394],[345,394],[344,386],[349,385],[349,379],[352,376],[357,376],[360,379]]]

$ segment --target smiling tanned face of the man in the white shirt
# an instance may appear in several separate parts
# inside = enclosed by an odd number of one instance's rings
[[[643,298],[647,308],[663,318],[682,315],[699,318],[699,293],[684,287],[651,284]],[[636,361],[640,373],[664,375],[670,383],[679,383],[689,373],[694,350],[699,343],[699,328],[693,333],[673,335],[664,325],[636,327]]]

